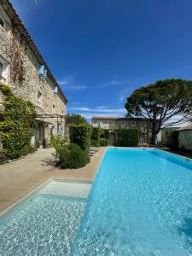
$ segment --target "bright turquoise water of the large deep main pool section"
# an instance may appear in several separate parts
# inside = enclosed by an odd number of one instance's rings
[[[71,255],[192,255],[192,162],[109,148]]]

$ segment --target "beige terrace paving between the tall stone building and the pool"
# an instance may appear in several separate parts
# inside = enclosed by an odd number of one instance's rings
[[[42,165],[42,160],[54,153],[54,148],[40,149],[34,154],[0,166],[0,212],[37,188],[49,177],[83,178],[92,181],[96,175],[105,147],[94,154],[87,166],[61,170]]]

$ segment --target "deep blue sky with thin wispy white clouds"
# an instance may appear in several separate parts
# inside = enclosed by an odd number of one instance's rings
[[[11,0],[68,99],[67,112],[124,116],[158,79],[192,79],[191,0]]]

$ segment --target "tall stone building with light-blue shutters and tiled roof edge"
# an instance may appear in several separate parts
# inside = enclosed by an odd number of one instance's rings
[[[51,133],[64,135],[67,98],[8,0],[0,2],[0,82],[36,106],[33,144],[49,144]]]

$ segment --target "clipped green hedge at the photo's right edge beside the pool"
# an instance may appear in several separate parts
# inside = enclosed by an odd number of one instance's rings
[[[178,148],[192,150],[192,130],[179,131]]]

